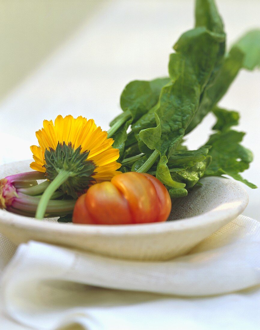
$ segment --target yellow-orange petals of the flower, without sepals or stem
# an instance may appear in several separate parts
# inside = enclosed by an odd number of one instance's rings
[[[86,160],[92,161],[95,170],[92,174],[96,182],[109,181],[121,172],[116,160],[119,158],[119,150],[114,149],[113,139],[107,138],[107,132],[97,127],[93,119],[87,120],[79,116],[57,116],[55,123],[52,120],[44,120],[43,128],[36,132],[39,147],[31,146],[34,162],[30,164],[33,170],[46,172],[44,159],[45,150],[56,149],[58,143],[70,143],[74,149],[81,146],[81,153],[89,152]]]

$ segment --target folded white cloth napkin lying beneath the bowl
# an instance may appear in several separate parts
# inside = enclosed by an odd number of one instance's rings
[[[260,223],[245,216],[163,262],[31,241],[3,270],[3,308],[33,329],[258,329],[259,252]]]

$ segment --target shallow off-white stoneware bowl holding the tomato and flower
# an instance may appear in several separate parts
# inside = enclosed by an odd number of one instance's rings
[[[0,178],[27,172],[30,161],[0,166]],[[30,240],[138,260],[184,254],[241,214],[248,195],[233,180],[208,177],[202,187],[173,200],[169,221],[133,225],[80,225],[37,220],[0,210],[0,232],[19,244]]]

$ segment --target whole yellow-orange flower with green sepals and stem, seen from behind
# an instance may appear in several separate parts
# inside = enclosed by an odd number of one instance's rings
[[[42,194],[35,217],[42,219],[55,192],[74,199],[88,187],[101,181],[110,181],[121,173],[117,169],[119,150],[113,139],[97,127],[93,119],[79,116],[57,116],[55,123],[44,120],[43,128],[36,132],[39,147],[31,146],[33,170],[45,172],[51,182]]]

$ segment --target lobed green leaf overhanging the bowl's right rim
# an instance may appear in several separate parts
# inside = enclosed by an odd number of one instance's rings
[[[253,160],[252,152],[240,144],[244,135],[244,132],[229,130],[210,136],[206,145],[211,146],[208,154],[212,157],[212,162],[205,175],[221,176],[226,174],[244,182],[251,188],[256,188],[253,183],[247,182],[239,174],[248,169]]]

